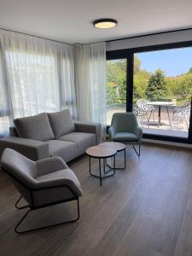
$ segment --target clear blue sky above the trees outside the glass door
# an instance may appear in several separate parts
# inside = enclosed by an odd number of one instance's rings
[[[192,47],[138,53],[137,57],[141,60],[142,69],[154,72],[160,68],[166,76],[186,73],[192,67]]]

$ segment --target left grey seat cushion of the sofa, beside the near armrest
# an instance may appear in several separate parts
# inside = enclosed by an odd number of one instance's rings
[[[49,140],[50,156],[60,156],[64,161],[68,162],[79,156],[78,146],[76,143],[63,142],[59,140]]]

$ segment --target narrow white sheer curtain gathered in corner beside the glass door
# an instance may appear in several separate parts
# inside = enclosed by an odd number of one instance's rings
[[[106,126],[106,49],[105,43],[76,48],[75,80],[78,117]]]

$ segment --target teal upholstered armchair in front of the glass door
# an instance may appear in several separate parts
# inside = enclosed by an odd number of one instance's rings
[[[138,125],[135,113],[113,113],[108,135],[111,142],[132,144],[137,155],[140,156],[143,130]],[[139,147],[138,151],[135,148],[136,144]]]

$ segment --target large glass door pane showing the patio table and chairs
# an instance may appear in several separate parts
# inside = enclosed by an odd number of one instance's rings
[[[189,136],[192,47],[134,55],[133,102],[143,132]]]

